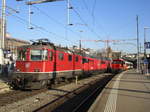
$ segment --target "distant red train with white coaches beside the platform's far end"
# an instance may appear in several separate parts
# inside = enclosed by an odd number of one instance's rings
[[[112,73],[119,73],[124,70],[128,70],[133,68],[133,63],[127,62],[123,59],[114,59],[111,63],[111,71]]]

